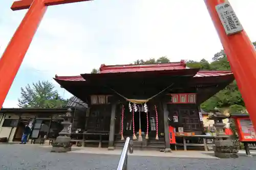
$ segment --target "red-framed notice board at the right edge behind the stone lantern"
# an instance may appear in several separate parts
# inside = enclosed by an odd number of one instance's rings
[[[250,118],[236,118],[240,141],[256,141],[255,131]]]

